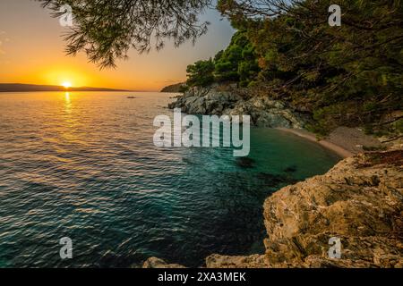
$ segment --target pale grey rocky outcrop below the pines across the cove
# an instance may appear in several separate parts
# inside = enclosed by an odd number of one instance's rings
[[[251,115],[254,125],[271,128],[304,128],[304,116],[285,102],[270,97],[249,97],[236,88],[191,88],[169,108],[185,114]]]

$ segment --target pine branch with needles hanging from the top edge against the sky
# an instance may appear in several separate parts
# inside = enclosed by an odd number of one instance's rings
[[[101,68],[116,66],[116,59],[125,59],[129,49],[140,53],[151,46],[161,49],[167,39],[175,46],[195,41],[208,28],[198,15],[211,0],[37,0],[64,15],[68,4],[73,12],[73,27],[65,35],[66,52],[83,51],[91,62]]]

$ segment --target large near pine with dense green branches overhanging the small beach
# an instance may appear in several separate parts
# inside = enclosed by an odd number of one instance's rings
[[[253,47],[237,59],[237,81],[260,83],[267,94],[308,111],[309,128],[320,135],[340,125],[364,126],[374,134],[401,132],[401,122],[382,122],[402,110],[403,1],[337,1],[341,27],[328,24],[330,4],[335,3],[220,0],[219,11],[248,40],[244,53]],[[235,71],[235,65],[223,68]]]

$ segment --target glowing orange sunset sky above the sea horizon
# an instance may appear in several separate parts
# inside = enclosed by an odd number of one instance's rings
[[[202,17],[212,24],[196,46],[167,45],[148,55],[131,51],[130,59],[118,62],[116,69],[99,71],[85,55],[64,55],[64,28],[39,3],[1,0],[0,82],[61,85],[69,81],[74,87],[159,90],[183,81],[188,64],[209,58],[228,45],[233,34],[229,23],[219,21],[216,12]]]

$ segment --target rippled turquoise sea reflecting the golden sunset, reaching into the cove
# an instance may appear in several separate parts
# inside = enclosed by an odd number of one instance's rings
[[[270,129],[252,130],[247,159],[154,147],[170,96],[0,94],[1,267],[200,266],[212,253],[262,253],[264,199],[339,161]],[[63,237],[73,259],[59,257]]]

